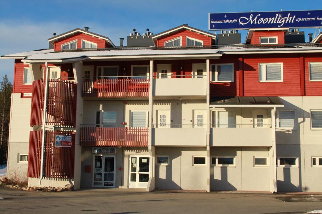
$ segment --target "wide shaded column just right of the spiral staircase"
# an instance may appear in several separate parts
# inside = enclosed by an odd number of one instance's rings
[[[77,101],[76,101],[76,126],[75,126],[75,159],[74,159],[74,189],[81,187],[81,124],[83,123],[83,98],[82,74],[83,63],[73,63],[73,73],[77,82]]]

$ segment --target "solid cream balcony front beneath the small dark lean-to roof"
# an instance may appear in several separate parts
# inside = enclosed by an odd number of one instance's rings
[[[221,127],[220,127],[221,126]],[[211,146],[271,147],[271,125],[215,125],[210,129]]]

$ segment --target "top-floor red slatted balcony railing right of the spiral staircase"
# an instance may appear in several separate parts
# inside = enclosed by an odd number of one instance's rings
[[[82,81],[82,96],[94,98],[148,97],[148,79],[93,79]]]

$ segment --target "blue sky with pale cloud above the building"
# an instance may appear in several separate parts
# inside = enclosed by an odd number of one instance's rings
[[[313,4],[314,2],[314,4]],[[320,1],[299,0],[51,0],[0,2],[0,55],[47,48],[52,33],[77,27],[109,37],[119,45],[132,29],[143,34],[146,28],[158,33],[183,23],[208,30],[208,13],[317,10]],[[307,34],[314,33],[307,29]],[[246,32],[242,32],[242,41]],[[0,80],[13,80],[14,60],[0,60]]]

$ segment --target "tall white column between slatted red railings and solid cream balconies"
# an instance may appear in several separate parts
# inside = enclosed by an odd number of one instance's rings
[[[155,189],[155,157],[156,157],[156,148],[152,146],[153,142],[153,59],[150,60],[150,73],[149,73],[149,126],[148,126],[148,149],[150,153],[150,175],[149,182],[147,184],[147,192]]]

